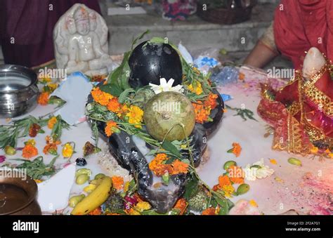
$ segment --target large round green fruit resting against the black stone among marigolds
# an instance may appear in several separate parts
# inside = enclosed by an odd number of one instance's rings
[[[156,140],[183,140],[195,127],[195,110],[183,94],[167,91],[148,101],[143,120]]]

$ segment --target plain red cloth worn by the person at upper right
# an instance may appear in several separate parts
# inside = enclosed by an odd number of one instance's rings
[[[296,70],[313,46],[333,60],[333,1],[282,0],[275,10],[274,37]]]

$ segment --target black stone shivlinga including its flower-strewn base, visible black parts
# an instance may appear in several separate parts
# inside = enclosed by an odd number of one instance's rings
[[[133,88],[141,88],[149,83],[159,85],[159,79],[165,78],[166,81],[174,79],[174,85],[181,84],[182,66],[177,51],[169,44],[146,44],[145,41],[133,50],[129,58],[131,75],[129,84]],[[100,83],[103,85],[103,83]],[[99,86],[100,86],[99,85]],[[192,159],[195,167],[199,166],[202,154],[207,147],[207,136],[216,131],[223,117],[223,100],[221,95],[213,89],[213,93],[218,95],[217,107],[211,111],[212,121],[204,124],[195,124],[190,138],[190,147],[192,147]],[[88,103],[93,98],[89,95]],[[91,122],[92,119],[89,119]],[[105,123],[96,121],[98,131],[107,137],[104,132]],[[145,126],[143,126],[145,130]],[[138,140],[136,135],[129,135],[125,131],[113,133],[108,139],[110,153],[115,157],[118,164],[126,168],[134,175],[138,183],[138,194],[152,204],[157,213],[166,213],[170,211],[177,199],[185,191],[185,185],[188,176],[178,174],[170,177],[169,185],[154,186],[154,175],[148,166],[147,151],[152,149],[150,145],[143,140]],[[190,159],[190,154],[186,150],[181,153],[186,159]]]

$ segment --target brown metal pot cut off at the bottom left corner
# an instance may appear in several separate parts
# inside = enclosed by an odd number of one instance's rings
[[[0,215],[41,215],[37,183],[29,176],[8,175],[0,171]]]

